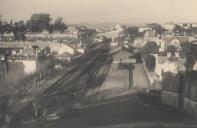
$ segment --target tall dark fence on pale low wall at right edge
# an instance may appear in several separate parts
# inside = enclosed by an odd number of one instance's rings
[[[162,103],[197,115],[197,72],[162,73]]]

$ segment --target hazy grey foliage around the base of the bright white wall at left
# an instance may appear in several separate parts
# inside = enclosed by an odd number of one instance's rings
[[[57,71],[54,66],[57,63],[65,64],[65,62],[61,62],[55,58],[46,58],[39,61],[37,72],[28,76],[22,74],[22,64],[17,64],[17,66],[14,64],[13,66],[15,67],[12,68],[11,72],[0,77],[0,93],[8,94],[10,92],[12,94],[16,93],[17,95],[27,93],[30,88],[39,86],[41,79],[47,79],[56,75]]]

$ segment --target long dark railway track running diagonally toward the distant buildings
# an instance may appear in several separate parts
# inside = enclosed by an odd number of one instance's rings
[[[69,70],[65,71],[63,76],[44,92],[44,98],[60,94],[71,89],[73,87],[71,83],[80,77],[87,68],[90,67],[97,58],[99,58],[103,49],[105,49],[104,44],[98,45],[86,53],[83,58],[76,60],[74,65]]]

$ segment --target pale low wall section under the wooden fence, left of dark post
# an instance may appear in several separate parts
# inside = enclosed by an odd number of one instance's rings
[[[175,92],[162,90],[161,101],[163,104],[166,104],[172,107],[178,107],[178,94]]]

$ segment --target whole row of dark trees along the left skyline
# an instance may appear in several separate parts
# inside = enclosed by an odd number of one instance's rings
[[[51,23],[50,14],[37,13],[33,14],[27,21],[7,22],[0,17],[0,34],[1,39],[4,39],[5,33],[13,33],[15,40],[25,40],[27,32],[43,32],[44,30],[52,33],[53,31],[64,32],[67,25],[63,22],[62,17],[58,17],[54,23]]]

